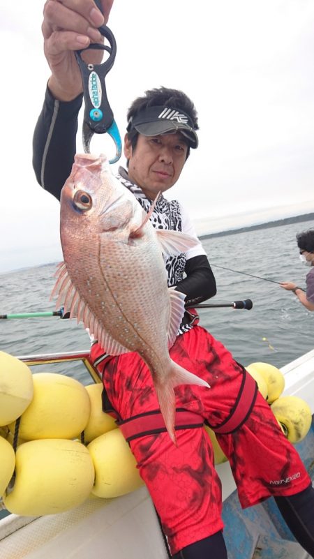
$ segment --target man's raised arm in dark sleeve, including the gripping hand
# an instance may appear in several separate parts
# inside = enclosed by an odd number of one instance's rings
[[[59,199],[76,151],[82,80],[74,51],[101,42],[97,27],[107,23],[113,0],[47,0],[42,31],[52,72],[33,134],[33,169],[38,183]],[[95,54],[94,54],[95,55]]]

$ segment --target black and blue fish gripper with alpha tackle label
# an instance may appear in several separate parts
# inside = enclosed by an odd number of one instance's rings
[[[75,56],[79,65],[83,82],[84,94],[84,119],[83,119],[83,148],[86,154],[90,153],[91,138],[94,134],[107,133],[114,140],[116,155],[110,163],[116,163],[122,152],[122,142],[119,128],[114,121],[114,114],[107,99],[105,77],[111,70],[117,53],[117,43],[109,27],[103,25],[98,28],[110,45],[91,43],[89,47],[76,50]],[[101,64],[87,63],[82,59],[82,52],[87,50],[105,50],[109,57]]]

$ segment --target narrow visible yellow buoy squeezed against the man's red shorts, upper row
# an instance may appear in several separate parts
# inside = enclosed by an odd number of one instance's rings
[[[84,438],[86,442],[91,442],[91,440],[96,439],[99,435],[117,428],[117,424],[113,417],[110,417],[110,415],[102,410],[101,393],[103,392],[103,385],[98,382],[94,385],[86,386],[85,389],[87,389],[91,401],[91,413],[87,426],[84,429]]]

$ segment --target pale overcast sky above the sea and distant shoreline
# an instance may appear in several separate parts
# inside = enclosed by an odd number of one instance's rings
[[[62,258],[59,202],[31,165],[50,75],[43,5],[1,6],[0,271]],[[314,211],[312,0],[115,0],[108,25],[117,57],[107,95],[121,136],[146,89],[182,89],[195,102],[200,147],[168,197],[199,234]],[[81,126],[77,140],[82,151]],[[110,150],[104,140],[92,151]]]

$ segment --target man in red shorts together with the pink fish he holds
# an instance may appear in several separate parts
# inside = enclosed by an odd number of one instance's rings
[[[52,75],[33,165],[41,186],[61,197],[58,301],[98,340],[91,356],[103,377],[104,410],[130,443],[174,558],[227,558],[204,422],[230,461],[241,505],[274,495],[314,556],[314,491],[299,455],[244,367],[184,308],[216,294],[186,212],[163,196],[197,148],[192,101],[164,87],[133,101],[128,166],[117,177],[105,156],[75,155],[82,80],[74,51],[101,42],[97,28],[111,7],[103,0],[102,15],[92,0],[45,4]]]

